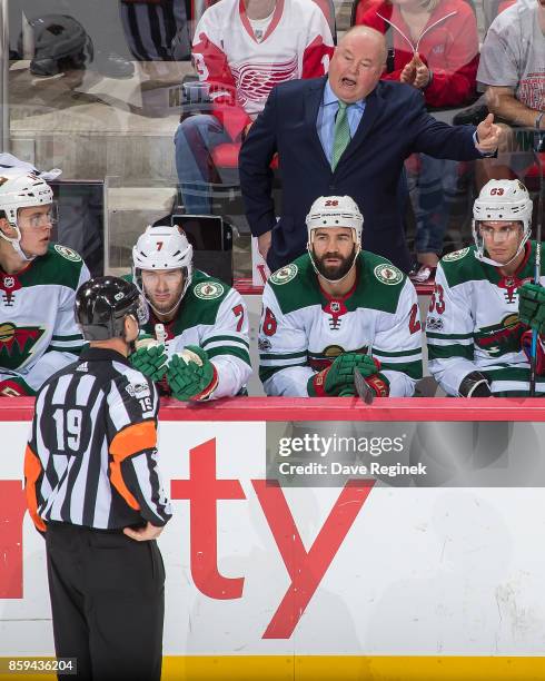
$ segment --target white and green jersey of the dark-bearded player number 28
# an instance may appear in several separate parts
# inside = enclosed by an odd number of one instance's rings
[[[360,253],[356,285],[343,298],[319,286],[308,254],[267,282],[259,327],[259,376],[267,395],[307,397],[307,382],[347,352],[371,347],[393,397],[422,377],[416,290],[385,258]]]

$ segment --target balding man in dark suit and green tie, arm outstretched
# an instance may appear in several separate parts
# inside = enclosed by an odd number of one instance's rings
[[[435,120],[414,88],[379,82],[385,61],[384,37],[355,27],[337,46],[328,78],[276,87],[251,128],[240,152],[240,186],[251,231],[272,270],[305,251],[305,215],[317,196],[335,191],[351,196],[365,214],[368,250],[408,272],[398,196],[405,159],[419,151],[470,160],[497,148],[493,116],[476,136],[473,127]],[[269,170],[277,151],[284,189],[278,224]]]

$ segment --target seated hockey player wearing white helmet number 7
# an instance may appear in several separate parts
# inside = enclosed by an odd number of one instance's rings
[[[177,399],[232,397],[251,374],[248,315],[227,284],[192,269],[178,227],[148,227],[132,249],[132,278],[150,308],[132,365]]]

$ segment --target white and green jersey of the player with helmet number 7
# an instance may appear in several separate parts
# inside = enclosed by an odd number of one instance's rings
[[[150,308],[150,320],[143,333],[157,337],[158,323]],[[172,322],[165,324],[165,332],[169,357],[187,345],[206,351],[218,372],[218,386],[211,399],[232,397],[244,389],[251,375],[248,310],[237,290],[204,272],[194,270],[178,313]],[[161,392],[169,392],[166,384]]]

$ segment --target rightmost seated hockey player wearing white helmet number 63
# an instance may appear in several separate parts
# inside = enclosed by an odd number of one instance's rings
[[[429,371],[448,395],[528,395],[532,332],[523,320],[539,310],[537,287],[529,284],[535,269],[532,200],[519,180],[490,180],[473,216],[475,246],[446,255],[437,268],[426,323]],[[521,317],[524,299],[529,309]],[[545,371],[542,344],[538,349],[539,375]],[[536,393],[543,392],[538,377]]]

